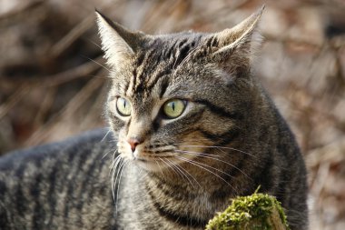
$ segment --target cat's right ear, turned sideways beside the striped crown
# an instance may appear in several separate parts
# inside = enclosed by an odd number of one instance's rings
[[[212,57],[230,70],[233,68],[249,68],[253,53],[261,45],[261,35],[258,23],[264,5],[256,13],[246,18],[242,23],[215,34],[218,40],[217,49],[213,49]]]

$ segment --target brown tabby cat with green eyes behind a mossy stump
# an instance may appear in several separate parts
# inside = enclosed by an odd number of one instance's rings
[[[219,33],[170,35],[96,11],[109,128],[1,157],[0,228],[204,229],[260,186],[307,229],[302,155],[254,75],[262,10]]]

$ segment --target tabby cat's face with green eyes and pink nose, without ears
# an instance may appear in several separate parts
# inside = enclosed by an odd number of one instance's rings
[[[175,39],[182,43],[180,37]],[[202,58],[174,69],[173,65],[180,64],[172,57],[176,51],[164,56],[161,46],[149,47],[127,60],[128,68],[113,79],[107,104],[109,122],[118,133],[119,152],[152,170],[171,164],[172,159],[203,153],[201,146],[214,145],[210,136],[233,128],[232,120],[217,115],[208,105],[221,105],[226,96],[227,85],[222,76],[216,77],[218,70],[203,66]],[[150,55],[150,59],[137,65],[142,55]]]

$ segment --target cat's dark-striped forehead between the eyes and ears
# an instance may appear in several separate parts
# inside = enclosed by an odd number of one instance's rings
[[[202,35],[183,33],[176,35],[157,35],[137,52],[121,78],[123,94],[163,96],[168,85],[174,86],[179,78],[177,71],[181,65],[191,62],[189,55],[199,45]],[[176,82],[177,81],[177,82]],[[124,87],[124,88],[123,88]]]

